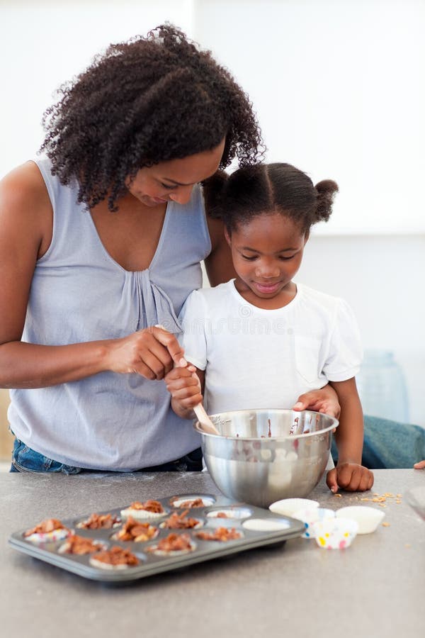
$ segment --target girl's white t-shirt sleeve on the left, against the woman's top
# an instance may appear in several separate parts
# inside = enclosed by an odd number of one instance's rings
[[[207,366],[207,323],[205,299],[198,291],[193,291],[186,299],[179,315],[183,333],[178,335],[184,349],[184,357],[200,370]]]

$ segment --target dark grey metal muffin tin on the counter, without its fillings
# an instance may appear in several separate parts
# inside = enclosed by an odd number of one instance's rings
[[[203,499],[204,504],[201,507],[176,507],[176,500],[185,502],[198,498]],[[19,552],[24,552],[67,571],[72,571],[79,574],[79,576],[84,576],[84,578],[91,578],[96,581],[121,582],[153,576],[163,571],[179,569],[180,567],[208,561],[220,556],[237,554],[238,552],[244,552],[246,549],[254,549],[254,547],[285,542],[289,538],[299,537],[304,532],[304,524],[300,520],[281,516],[246,503],[234,503],[224,496],[190,493],[172,495],[157,500],[159,500],[165,510],[164,515],[162,518],[155,520],[152,520],[152,518],[146,519],[149,524],[158,527],[159,532],[155,539],[149,539],[145,542],[113,540],[111,538],[112,535],[119,531],[121,526],[113,527],[113,529],[109,530],[87,530],[77,527],[79,522],[89,518],[90,513],[62,520],[63,525],[74,534],[90,538],[95,542],[101,543],[103,547],[111,549],[113,546],[119,546],[123,549],[130,549],[130,552],[135,554],[139,560],[137,566],[129,566],[125,569],[101,569],[101,567],[90,564],[90,555],[81,556],[60,553],[60,547],[66,539],[35,543],[28,541],[23,536],[26,530],[14,532],[9,538],[9,543]],[[111,513],[112,515],[120,516],[120,512],[128,508],[128,505],[125,504],[122,508],[103,511],[99,514]],[[189,510],[188,517],[200,520],[202,525],[196,529],[189,530],[170,530],[161,527],[161,522],[172,513],[182,513],[184,510]],[[225,513],[226,517],[220,516],[220,513]],[[240,532],[241,537],[226,542],[202,540],[197,537],[198,532],[214,533],[217,527],[234,527],[237,532]],[[193,550],[185,553],[176,552],[174,555],[161,554],[160,552],[154,553],[152,551],[153,546],[171,532],[178,535],[189,535]],[[94,556],[94,554],[91,554],[91,556]]]

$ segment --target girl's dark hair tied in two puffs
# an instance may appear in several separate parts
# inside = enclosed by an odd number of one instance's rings
[[[217,172],[205,181],[208,213],[219,217],[229,233],[264,213],[279,212],[292,219],[302,233],[327,221],[338,185],[325,179],[314,186],[310,177],[290,164],[256,164],[230,176]]]

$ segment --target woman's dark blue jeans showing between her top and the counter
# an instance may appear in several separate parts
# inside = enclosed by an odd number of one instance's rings
[[[62,474],[81,474],[82,472],[97,472],[99,470],[91,470],[72,465],[66,465],[60,461],[54,461],[43,456],[40,452],[35,452],[15,438],[13,443],[11,472],[60,472]],[[202,471],[202,451],[200,447],[189,452],[181,459],[169,461],[162,465],[145,467],[142,472],[199,472]]]

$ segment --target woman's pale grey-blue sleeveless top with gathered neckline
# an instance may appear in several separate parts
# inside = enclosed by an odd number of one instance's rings
[[[200,261],[211,250],[200,186],[185,206],[168,204],[149,268],[128,272],[103,247],[89,211],[77,203],[77,186],[62,186],[50,160],[35,163],[52,202],[53,235],[35,267],[22,340],[65,345],[115,339],[158,323],[181,332],[177,315],[202,286]],[[164,382],[137,374],[103,372],[12,390],[8,419],[29,447],[83,468],[132,471],[177,459],[200,444],[192,422],[171,410]]]

